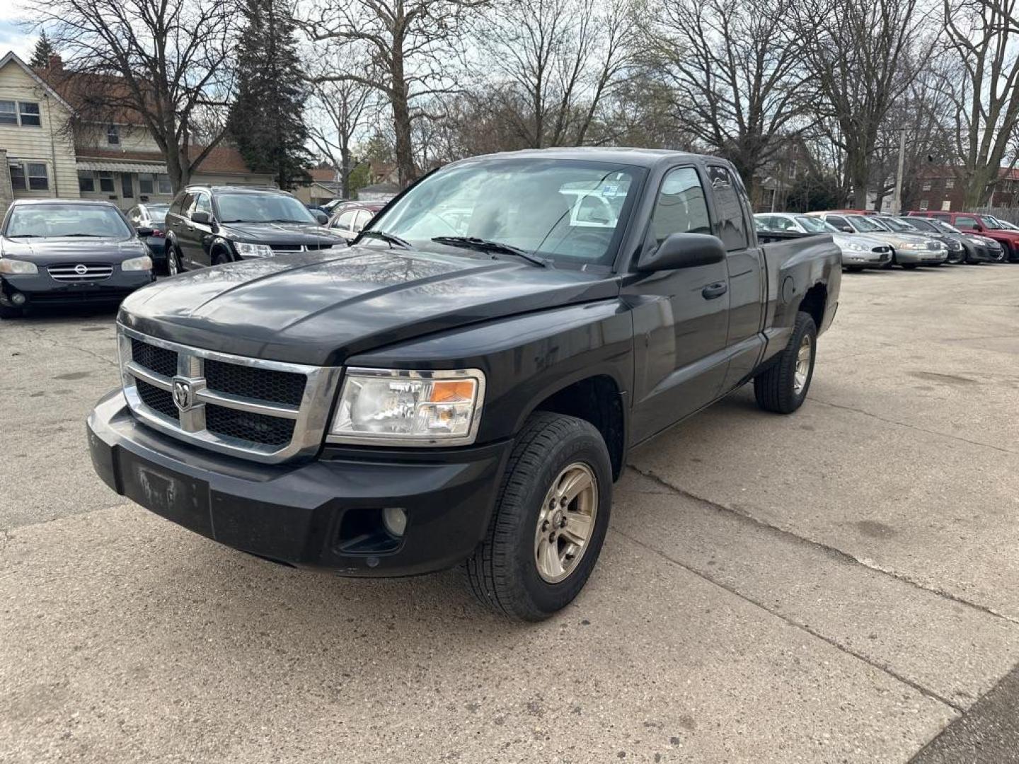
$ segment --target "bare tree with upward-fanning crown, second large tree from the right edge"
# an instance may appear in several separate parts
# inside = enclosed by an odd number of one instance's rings
[[[806,0],[793,7],[819,108],[838,125],[830,138],[845,152],[853,205],[863,209],[881,125],[926,63],[927,16],[917,0]]]

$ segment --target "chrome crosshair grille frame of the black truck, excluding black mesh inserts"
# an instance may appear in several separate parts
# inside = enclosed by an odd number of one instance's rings
[[[176,375],[168,377],[136,363],[132,340],[177,354]],[[340,367],[305,366],[278,361],[263,361],[243,356],[205,350],[157,339],[117,324],[117,346],[120,353],[120,373],[124,397],[135,417],[154,430],[186,443],[208,448],[219,453],[242,458],[275,463],[294,456],[315,453],[322,445],[328,426],[329,410],[342,369]],[[205,362],[216,361],[249,369],[300,374],[306,379],[299,405],[280,403],[234,393],[211,390],[206,386]],[[174,383],[182,382],[191,390],[192,405],[177,405],[177,417],[153,408],[143,400],[139,382],[165,391],[173,396]],[[151,390],[147,397],[152,400]],[[207,429],[206,405],[232,410],[237,413],[268,417],[293,423],[292,435],[285,443],[260,443],[239,437],[217,434]]]

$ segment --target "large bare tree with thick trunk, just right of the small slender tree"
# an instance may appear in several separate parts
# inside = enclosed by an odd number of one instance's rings
[[[449,62],[471,11],[488,0],[326,0],[303,19],[308,35],[340,47],[364,46],[367,68],[334,71],[325,81],[376,89],[392,110],[401,185],[417,174],[412,122],[427,116],[429,97],[460,90]]]

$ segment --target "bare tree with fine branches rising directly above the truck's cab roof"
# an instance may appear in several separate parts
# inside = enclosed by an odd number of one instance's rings
[[[580,146],[631,60],[627,0],[504,0],[480,24],[490,108],[524,147]]]

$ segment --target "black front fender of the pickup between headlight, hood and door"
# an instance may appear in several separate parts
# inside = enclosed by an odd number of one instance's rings
[[[633,322],[619,299],[539,311],[432,334],[347,360],[382,369],[480,369],[477,443],[515,435],[547,397],[590,377],[633,387]],[[624,406],[626,412],[628,406]]]

